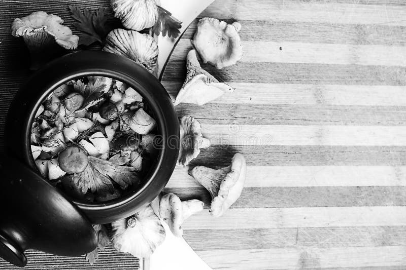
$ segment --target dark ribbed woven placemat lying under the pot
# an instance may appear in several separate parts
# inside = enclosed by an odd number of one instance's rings
[[[5,1],[0,0],[0,153],[4,152],[4,124],[10,103],[20,85],[28,78],[29,54],[21,38],[10,34],[10,25],[14,18],[23,17],[34,11],[46,11],[60,16],[64,24],[72,28],[73,19],[69,16],[67,4],[80,8],[109,9],[109,0],[103,1]],[[111,14],[111,13],[110,13]],[[110,15],[110,20],[114,18]],[[93,46],[90,49],[99,49]],[[116,251],[109,245],[99,253],[99,259],[91,266],[81,257],[60,257],[47,253],[28,250],[28,264],[24,269],[138,269],[138,259],[129,254]],[[0,269],[16,269],[0,258]]]

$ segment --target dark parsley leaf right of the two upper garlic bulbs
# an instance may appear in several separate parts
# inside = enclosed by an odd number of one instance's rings
[[[182,22],[173,17],[171,12],[159,6],[157,7],[158,21],[152,26],[152,32],[155,35],[159,35],[159,33],[162,32],[162,36],[165,36],[167,33],[168,37],[172,36],[176,38],[181,33],[179,29],[182,27]]]

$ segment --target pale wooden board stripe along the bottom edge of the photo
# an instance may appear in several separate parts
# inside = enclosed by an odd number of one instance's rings
[[[286,248],[198,251],[213,268],[304,269],[328,267],[401,266],[406,263],[406,246]],[[252,262],[255,261],[255,264]]]

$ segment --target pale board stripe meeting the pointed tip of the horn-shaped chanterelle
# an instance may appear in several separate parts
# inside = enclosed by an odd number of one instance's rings
[[[225,83],[235,91],[211,103],[406,106],[404,86]],[[162,84],[175,99],[183,83]]]

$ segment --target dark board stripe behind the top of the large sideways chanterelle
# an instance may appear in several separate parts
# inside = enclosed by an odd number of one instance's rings
[[[211,146],[201,149],[190,166],[222,168],[235,153],[242,153],[248,166],[404,166],[404,146]]]

